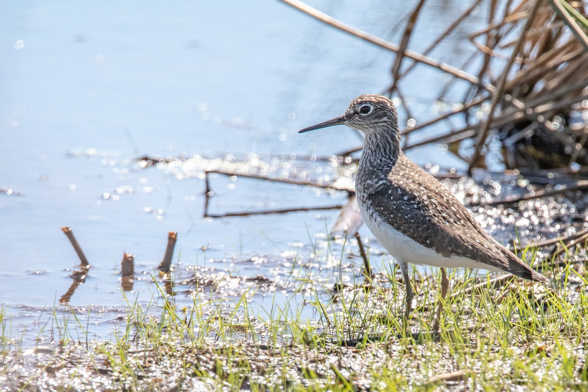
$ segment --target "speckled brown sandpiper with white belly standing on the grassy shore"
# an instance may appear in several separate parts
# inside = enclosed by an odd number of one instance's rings
[[[349,126],[364,135],[355,193],[366,226],[400,265],[406,286],[406,321],[412,313],[414,297],[409,263],[441,270],[434,330],[439,329],[449,290],[446,268],[507,272],[533,282],[549,283],[547,277],[486,233],[449,189],[407,158],[400,148],[398,115],[390,99],[383,95],[360,95],[342,116],[299,133],[335,125]]]

